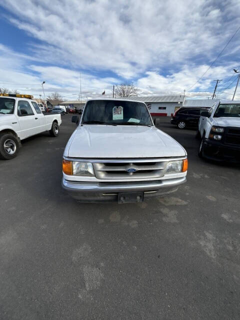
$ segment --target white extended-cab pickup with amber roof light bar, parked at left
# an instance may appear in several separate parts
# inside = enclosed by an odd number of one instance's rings
[[[44,131],[57,136],[60,124],[61,115],[43,115],[31,95],[0,94],[0,158],[15,157],[28,136]]]

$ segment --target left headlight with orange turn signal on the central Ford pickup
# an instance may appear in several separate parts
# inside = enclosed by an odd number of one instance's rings
[[[94,176],[91,162],[62,160],[62,171],[68,175]]]

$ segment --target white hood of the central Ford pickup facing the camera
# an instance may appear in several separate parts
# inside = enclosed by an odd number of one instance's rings
[[[184,148],[154,126],[83,125],[69,139],[65,156],[149,158],[185,156]]]

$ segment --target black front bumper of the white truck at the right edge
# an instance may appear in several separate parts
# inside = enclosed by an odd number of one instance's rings
[[[203,142],[202,156],[215,161],[240,163],[240,146],[228,146],[219,141],[206,139]]]

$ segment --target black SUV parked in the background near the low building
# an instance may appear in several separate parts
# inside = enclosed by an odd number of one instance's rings
[[[185,127],[197,128],[201,112],[208,111],[206,108],[179,108],[171,117],[171,123],[176,124],[179,129]]]

